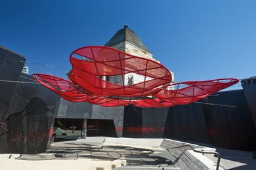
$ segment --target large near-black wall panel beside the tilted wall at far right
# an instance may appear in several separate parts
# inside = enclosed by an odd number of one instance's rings
[[[215,93],[208,99],[210,103],[234,106],[210,107],[211,121],[215,124],[215,145],[241,150],[255,148],[256,131],[243,90]]]

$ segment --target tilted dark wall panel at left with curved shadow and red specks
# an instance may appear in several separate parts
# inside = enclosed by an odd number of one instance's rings
[[[35,82],[32,76],[23,73],[20,81]],[[9,131],[5,152],[36,154],[47,149],[59,97],[41,84],[33,83],[17,85],[7,117]]]

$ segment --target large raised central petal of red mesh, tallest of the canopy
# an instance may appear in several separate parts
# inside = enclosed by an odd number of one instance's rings
[[[77,56],[81,56],[81,58],[77,59]],[[70,62],[73,67],[69,76],[70,80],[94,95],[134,97],[140,93],[140,96],[146,96],[148,95],[147,90],[154,88],[161,90],[171,82],[171,73],[160,63],[125,54],[125,52],[106,46],[79,48],[71,54]],[[121,85],[100,78],[100,76],[118,75],[123,77],[127,73],[137,73],[152,78],[152,80],[145,78],[142,82],[127,86],[124,78],[121,80]],[[77,77],[83,80],[79,80]]]

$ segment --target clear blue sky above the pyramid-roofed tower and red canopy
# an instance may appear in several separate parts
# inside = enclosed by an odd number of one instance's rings
[[[176,82],[256,75],[256,1],[9,0],[0,16],[0,45],[35,63],[68,70],[73,50],[104,45],[127,24]]]

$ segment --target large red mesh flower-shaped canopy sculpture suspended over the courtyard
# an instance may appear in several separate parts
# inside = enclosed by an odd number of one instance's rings
[[[198,101],[238,82],[235,78],[171,84],[171,73],[151,59],[106,46],[85,46],[70,55],[70,80],[33,74],[43,86],[72,102],[87,101],[104,107],[171,107]],[[129,75],[140,81],[131,83]]]

